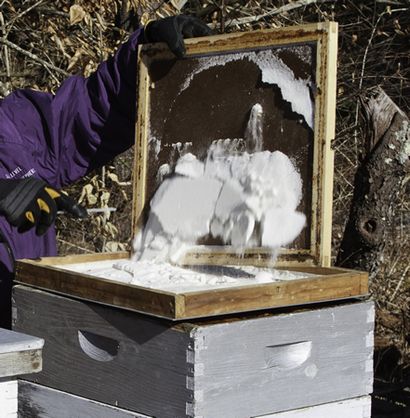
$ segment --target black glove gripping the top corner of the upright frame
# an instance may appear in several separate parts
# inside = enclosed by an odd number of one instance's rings
[[[211,29],[196,17],[171,16],[149,22],[144,30],[146,42],[166,42],[178,57],[185,55],[184,38],[196,38],[211,34]]]

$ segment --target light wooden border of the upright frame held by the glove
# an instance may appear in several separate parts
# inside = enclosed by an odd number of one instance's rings
[[[312,187],[312,225],[310,248],[284,250],[277,265],[330,266],[331,220],[333,193],[333,151],[331,141],[335,130],[336,107],[336,55],[337,23],[324,22],[304,26],[255,32],[234,33],[186,41],[187,57],[200,54],[219,54],[224,51],[245,51],[267,46],[316,45],[316,85],[314,118],[314,156]],[[163,53],[163,46],[143,46],[139,51],[138,121],[136,126],[136,152],[134,167],[133,230],[141,228],[146,205],[148,129],[151,80],[147,60],[156,53]],[[148,58],[147,58],[148,57]],[[245,259],[248,264],[268,259],[270,253],[263,248],[248,250]],[[231,264],[238,257],[229,247],[198,246],[187,254],[186,264]]]

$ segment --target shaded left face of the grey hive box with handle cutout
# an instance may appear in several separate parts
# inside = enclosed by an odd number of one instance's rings
[[[172,323],[23,286],[13,294],[15,328],[46,341],[43,371],[27,380],[146,415],[185,416],[189,336]]]

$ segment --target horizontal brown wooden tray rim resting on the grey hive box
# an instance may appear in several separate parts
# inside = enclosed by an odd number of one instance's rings
[[[207,317],[348,299],[368,294],[368,275],[341,268],[299,266],[315,276],[267,284],[173,293],[64,270],[61,265],[128,259],[127,253],[47,257],[17,262],[19,283],[170,320]],[[59,267],[56,267],[59,266]]]

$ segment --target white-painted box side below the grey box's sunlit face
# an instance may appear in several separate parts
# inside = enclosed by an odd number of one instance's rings
[[[362,396],[255,418],[370,418],[370,409],[370,396]]]

